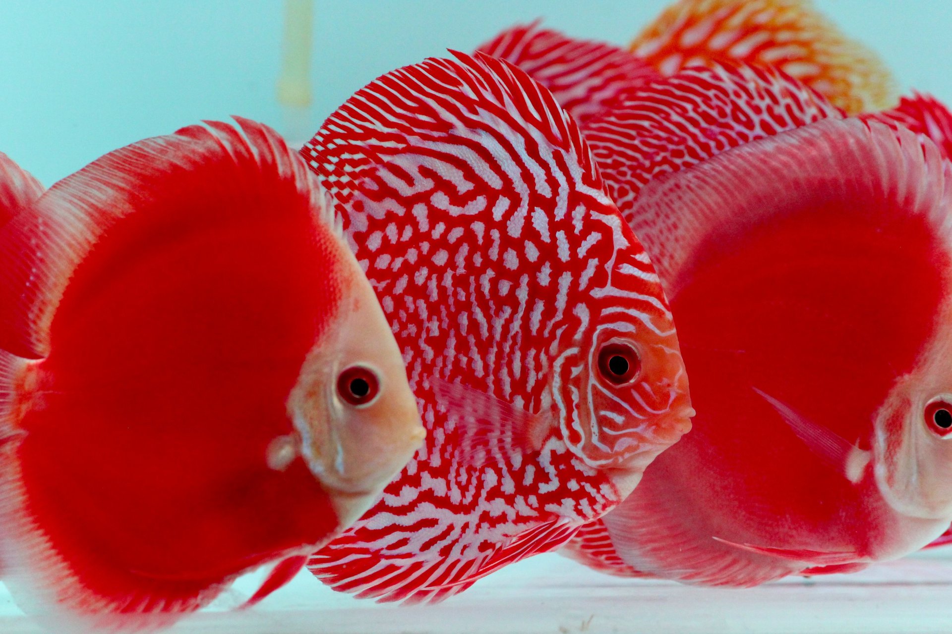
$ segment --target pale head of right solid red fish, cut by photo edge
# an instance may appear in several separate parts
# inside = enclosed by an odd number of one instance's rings
[[[874,420],[876,482],[903,515],[952,518],[952,315]]]

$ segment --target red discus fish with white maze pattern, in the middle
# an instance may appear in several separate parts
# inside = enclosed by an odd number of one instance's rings
[[[526,73],[455,55],[360,90],[302,150],[349,210],[428,430],[310,562],[385,601],[563,545],[692,413],[658,277],[578,126]]]

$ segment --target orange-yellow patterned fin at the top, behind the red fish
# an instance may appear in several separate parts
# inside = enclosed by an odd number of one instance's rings
[[[642,30],[631,50],[663,75],[738,62],[778,67],[849,114],[896,102],[879,56],[809,0],[679,0]]]

